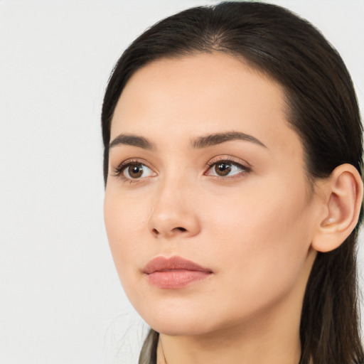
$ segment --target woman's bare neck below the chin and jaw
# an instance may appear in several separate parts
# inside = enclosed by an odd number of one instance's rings
[[[158,364],[298,364],[299,328],[225,328],[200,336],[159,336]]]

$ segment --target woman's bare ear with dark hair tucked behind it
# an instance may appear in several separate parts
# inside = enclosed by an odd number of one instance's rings
[[[323,213],[319,217],[311,246],[318,252],[339,247],[358,223],[363,200],[363,181],[351,164],[336,167],[324,181]]]

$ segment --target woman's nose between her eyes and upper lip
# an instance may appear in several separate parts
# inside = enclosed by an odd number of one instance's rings
[[[193,237],[200,232],[200,220],[193,188],[183,181],[166,182],[156,191],[148,228],[156,238]]]

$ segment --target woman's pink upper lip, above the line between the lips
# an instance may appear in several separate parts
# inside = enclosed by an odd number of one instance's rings
[[[143,272],[146,274],[151,274],[154,272],[165,272],[171,270],[194,270],[199,272],[212,273],[211,269],[201,267],[191,260],[184,259],[182,257],[155,257],[146,264]]]

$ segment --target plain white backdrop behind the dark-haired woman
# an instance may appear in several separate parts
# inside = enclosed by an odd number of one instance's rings
[[[215,2],[0,0],[0,364],[136,363],[145,327],[102,218],[102,95],[147,26]],[[363,114],[364,1],[272,2],[336,45]]]

